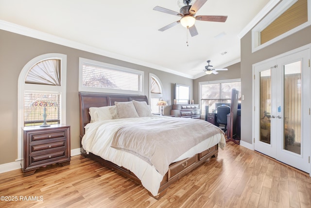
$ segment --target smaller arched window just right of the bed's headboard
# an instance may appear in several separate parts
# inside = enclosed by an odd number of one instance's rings
[[[163,99],[163,87],[160,79],[154,74],[149,75],[149,89],[151,113],[159,114],[160,106],[157,105],[157,102]]]

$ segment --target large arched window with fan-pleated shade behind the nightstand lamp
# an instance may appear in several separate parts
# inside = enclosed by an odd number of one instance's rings
[[[19,159],[22,127],[66,123],[66,66],[66,55],[45,54],[30,60],[20,72],[17,141]]]

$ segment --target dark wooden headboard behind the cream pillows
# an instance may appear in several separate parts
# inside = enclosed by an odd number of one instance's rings
[[[90,107],[112,106],[117,102],[128,102],[132,100],[146,101],[146,95],[121,95],[121,94],[101,94],[101,93],[84,93],[79,92],[80,100],[80,140],[82,139],[86,124],[90,122],[90,115],[88,109]],[[81,142],[81,141],[80,141]],[[80,143],[81,144],[81,143]]]

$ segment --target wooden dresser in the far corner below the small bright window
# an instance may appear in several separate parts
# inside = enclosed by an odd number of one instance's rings
[[[171,115],[175,117],[200,119],[201,109],[198,104],[173,104]]]

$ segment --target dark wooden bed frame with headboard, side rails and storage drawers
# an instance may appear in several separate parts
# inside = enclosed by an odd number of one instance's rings
[[[80,145],[83,135],[85,134],[85,126],[90,122],[89,108],[90,107],[102,107],[102,106],[112,106],[115,101],[117,102],[127,102],[131,100],[137,101],[148,101],[145,95],[115,95],[115,94],[99,94],[99,93],[83,93],[79,92],[80,100]],[[148,102],[147,102],[148,103]],[[81,145],[81,153],[84,156],[89,156],[90,158],[102,163],[106,167],[119,172],[121,175],[126,176],[141,184],[140,180],[136,177],[134,173],[123,167],[120,167],[110,161],[104,160],[103,158],[89,153],[86,155],[86,151],[83,150]],[[158,194],[153,196],[149,191],[149,195],[155,199],[159,199],[165,195],[168,187],[179,178],[186,175],[191,170],[194,170],[202,163],[204,163],[210,157],[217,157],[218,145],[209,148],[206,151],[198,153],[190,158],[184,159],[179,162],[172,163],[169,167],[169,171],[164,175],[163,180],[160,184]]]

